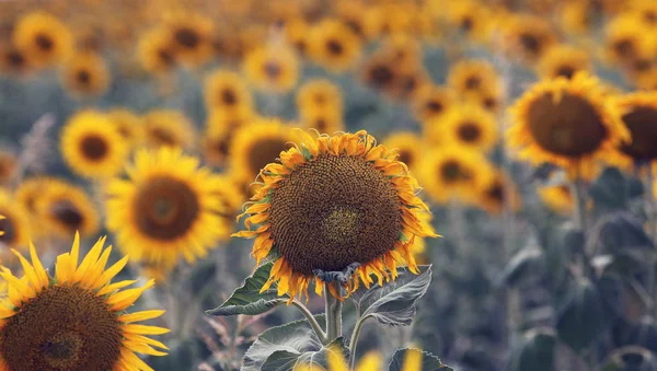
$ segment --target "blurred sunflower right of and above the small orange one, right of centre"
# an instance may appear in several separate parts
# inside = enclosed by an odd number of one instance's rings
[[[465,59],[454,65],[447,76],[447,84],[457,93],[502,89],[502,79],[495,67],[485,61]]]

